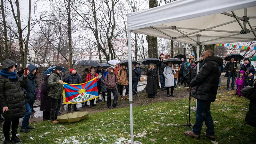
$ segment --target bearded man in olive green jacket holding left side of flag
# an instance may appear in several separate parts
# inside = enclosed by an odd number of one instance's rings
[[[58,123],[57,120],[58,110],[61,106],[61,97],[63,92],[63,81],[62,76],[62,67],[60,65],[55,67],[55,71],[48,78],[48,86],[50,86],[49,97],[51,99],[51,122]]]

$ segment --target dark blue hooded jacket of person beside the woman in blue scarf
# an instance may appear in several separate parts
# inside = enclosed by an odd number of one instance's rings
[[[37,70],[38,67],[35,65],[28,65],[29,68],[29,74],[27,75],[28,78],[28,82],[26,84],[25,87],[22,87],[23,90],[26,90],[26,98],[25,98],[25,103],[34,103],[36,100],[36,88],[38,87],[38,84],[36,82],[37,77],[35,76],[35,74],[32,74],[32,72],[34,70]],[[23,79],[23,75],[21,77],[21,79]]]

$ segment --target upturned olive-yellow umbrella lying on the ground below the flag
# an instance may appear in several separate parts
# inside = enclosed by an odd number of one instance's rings
[[[78,122],[81,121],[82,119],[88,118],[88,112],[87,111],[78,111],[74,113],[69,113],[69,114],[63,114],[61,116],[58,116],[57,119],[60,122]]]

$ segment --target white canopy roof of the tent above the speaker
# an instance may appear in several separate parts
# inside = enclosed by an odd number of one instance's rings
[[[255,0],[178,0],[130,13],[127,20],[135,33],[190,44],[256,41]]]

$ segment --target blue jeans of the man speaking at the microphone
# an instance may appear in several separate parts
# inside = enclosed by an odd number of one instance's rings
[[[214,126],[212,121],[212,116],[210,112],[211,102],[204,100],[197,100],[197,109],[196,109],[196,122],[193,126],[193,132],[196,135],[200,135],[203,122],[206,125],[206,132],[208,135],[214,135]]]

